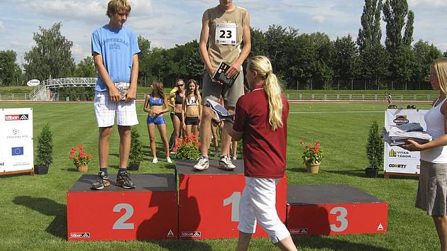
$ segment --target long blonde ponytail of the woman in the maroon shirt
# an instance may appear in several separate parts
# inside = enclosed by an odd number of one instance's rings
[[[269,110],[268,123],[272,125],[272,130],[282,127],[282,91],[276,75],[273,74],[272,63],[264,56],[251,57],[248,69],[258,72],[259,76],[264,79]]]

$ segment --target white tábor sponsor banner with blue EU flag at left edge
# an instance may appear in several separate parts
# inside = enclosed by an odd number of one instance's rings
[[[34,166],[33,109],[0,109],[0,174]]]

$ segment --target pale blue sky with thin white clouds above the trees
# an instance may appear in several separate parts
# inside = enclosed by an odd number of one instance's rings
[[[202,14],[219,0],[130,0],[132,11],[124,24],[143,35],[151,47],[172,48],[199,40]],[[109,22],[107,0],[0,0],[0,50],[14,50],[17,62],[35,45],[33,33],[62,22],[61,33],[73,42],[72,55],[79,62],[91,55],[92,31]],[[335,40],[351,34],[357,38],[363,0],[234,0],[250,13],[253,28],[272,24],[299,29],[299,33],[323,32]],[[447,50],[447,0],[408,0],[415,13],[414,42],[425,40],[441,52]],[[385,33],[385,23],[382,22]],[[382,39],[385,34],[382,35]]]

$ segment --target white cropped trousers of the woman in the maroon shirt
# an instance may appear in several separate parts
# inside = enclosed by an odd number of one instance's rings
[[[279,181],[280,179],[245,177],[239,204],[239,231],[255,233],[258,222],[273,243],[290,236],[276,211],[276,185]]]

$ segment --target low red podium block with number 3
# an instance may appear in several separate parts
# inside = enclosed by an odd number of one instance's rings
[[[292,235],[386,233],[388,203],[348,185],[287,187]]]

